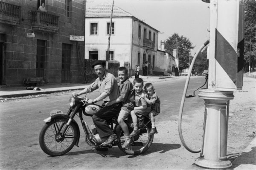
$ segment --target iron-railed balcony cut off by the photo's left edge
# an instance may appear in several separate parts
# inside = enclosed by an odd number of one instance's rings
[[[20,25],[20,6],[0,1],[0,23]]]

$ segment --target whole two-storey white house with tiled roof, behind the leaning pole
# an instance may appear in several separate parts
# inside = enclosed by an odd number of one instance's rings
[[[159,31],[134,15],[113,6],[110,55],[107,58],[108,32],[112,4],[98,4],[86,9],[85,59],[117,60],[120,66],[135,69],[145,61],[154,68]],[[133,73],[133,72],[132,72]]]

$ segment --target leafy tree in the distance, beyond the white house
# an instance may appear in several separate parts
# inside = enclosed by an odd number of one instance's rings
[[[176,41],[177,38],[177,41]],[[177,42],[177,44],[176,44]],[[183,35],[174,33],[165,42],[166,51],[172,54],[174,49],[177,49],[177,55],[179,57],[179,70],[189,68],[190,52],[195,46],[192,46],[192,42]]]

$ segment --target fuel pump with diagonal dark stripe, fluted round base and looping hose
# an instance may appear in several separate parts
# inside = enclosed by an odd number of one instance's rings
[[[244,53],[244,4],[241,0],[203,0],[210,3],[210,39],[195,54],[189,68],[180,104],[179,135],[183,146],[200,153],[195,164],[224,169],[231,167],[227,159],[229,102],[233,92],[242,88]],[[201,150],[187,147],[181,130],[181,119],[191,71],[198,53],[209,43],[208,88],[201,88],[204,99],[204,129]],[[190,95],[187,97],[192,97]]]

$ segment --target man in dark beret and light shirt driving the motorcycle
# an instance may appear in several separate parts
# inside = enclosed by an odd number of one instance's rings
[[[92,104],[101,100],[106,103],[117,99],[120,95],[119,87],[113,74],[106,72],[105,61],[97,60],[93,62],[92,68],[94,68],[98,78],[79,93],[74,92],[72,96],[86,94],[99,88],[100,95],[96,99],[89,99],[88,103]],[[114,116],[117,116],[121,110],[121,106],[121,103],[105,106],[93,115],[93,123],[96,127],[99,137],[102,140],[107,139],[102,145],[111,144],[115,139],[117,139],[116,134],[114,134],[111,128],[108,126],[107,121],[111,120]]]

